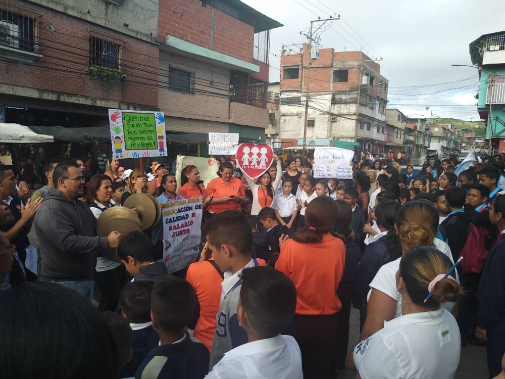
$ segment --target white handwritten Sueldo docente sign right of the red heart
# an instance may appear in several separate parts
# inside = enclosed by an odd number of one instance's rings
[[[350,161],[354,151],[321,147],[314,150],[314,177],[352,179]]]

